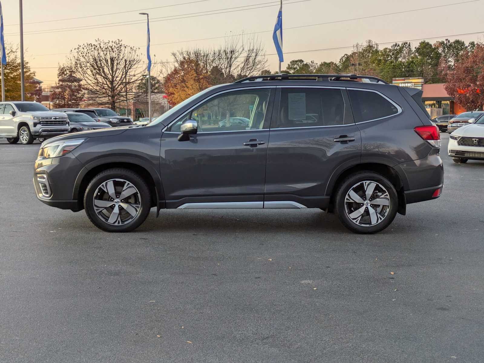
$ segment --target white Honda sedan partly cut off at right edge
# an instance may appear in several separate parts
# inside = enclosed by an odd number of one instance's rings
[[[484,116],[468,122],[450,135],[448,152],[456,163],[484,160]]]

